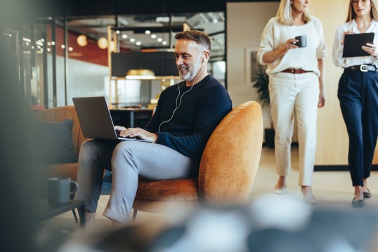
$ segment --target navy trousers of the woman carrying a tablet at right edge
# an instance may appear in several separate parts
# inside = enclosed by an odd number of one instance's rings
[[[349,135],[348,164],[353,186],[370,177],[378,135],[378,72],[345,69],[339,81],[340,101]]]

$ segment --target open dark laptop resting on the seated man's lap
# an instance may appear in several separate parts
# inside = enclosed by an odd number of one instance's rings
[[[115,131],[105,97],[72,98],[74,108],[86,138],[151,142],[140,138],[122,138]]]

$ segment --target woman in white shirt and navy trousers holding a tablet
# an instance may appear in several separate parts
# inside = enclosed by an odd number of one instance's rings
[[[374,32],[374,43],[362,46],[367,56],[343,58],[346,34]],[[346,22],[337,28],[332,48],[334,65],[343,67],[337,96],[349,135],[348,164],[354,187],[352,205],[370,198],[370,177],[378,135],[377,0],[351,0]]]

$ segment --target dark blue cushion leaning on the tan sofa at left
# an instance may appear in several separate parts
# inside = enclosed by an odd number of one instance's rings
[[[74,153],[72,143],[72,124],[72,120],[38,123],[41,164],[77,162],[77,154]]]

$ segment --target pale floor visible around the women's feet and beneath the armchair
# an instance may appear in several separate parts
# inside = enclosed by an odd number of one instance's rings
[[[292,173],[287,177],[288,194],[292,194],[301,199],[300,187],[298,185],[298,148],[292,148]],[[257,172],[251,193],[249,194],[249,201],[253,204],[256,199],[264,195],[273,195],[273,187],[275,185],[278,175],[275,173],[275,154],[274,150],[268,147],[263,147],[261,154],[261,161],[259,171]],[[372,172],[368,180],[368,186],[372,192],[372,198],[365,200],[365,209],[378,209],[378,172]],[[318,206],[337,206],[344,209],[353,209],[351,200],[353,199],[353,187],[351,185],[351,178],[348,171],[315,171],[313,174],[313,193],[318,199]],[[110,220],[105,218],[102,213],[107,204],[109,195],[101,195],[98,212],[96,214],[96,227],[110,227]],[[55,218],[56,223],[73,222],[72,213],[64,213]],[[138,212],[136,224],[145,223],[148,220],[167,219],[170,216],[156,215],[151,213]],[[376,249],[377,248],[377,249]],[[367,251],[378,251],[378,241],[372,243]]]

